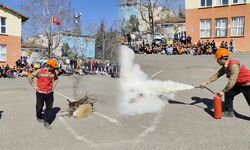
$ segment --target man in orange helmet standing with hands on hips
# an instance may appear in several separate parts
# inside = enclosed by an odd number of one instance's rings
[[[46,67],[37,69],[28,77],[31,86],[36,90],[37,121],[44,123],[47,129],[51,129],[50,114],[54,101],[53,90],[58,81],[58,77],[55,73],[56,66],[56,59],[48,59]],[[34,82],[35,77],[37,78],[37,83]],[[42,115],[44,103],[46,104],[46,108]]]

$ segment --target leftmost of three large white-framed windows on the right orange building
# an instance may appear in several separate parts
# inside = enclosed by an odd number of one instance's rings
[[[211,26],[212,26],[211,19],[200,20],[200,37],[201,38],[211,37]]]

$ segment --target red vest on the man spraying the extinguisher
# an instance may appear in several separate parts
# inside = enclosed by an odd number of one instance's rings
[[[240,65],[240,61],[235,60],[235,59],[229,59],[227,71],[226,71],[228,78],[230,77],[229,72],[230,72],[232,64]],[[240,65],[240,72],[239,72],[236,83],[239,85],[244,85],[244,84],[250,83],[250,70],[248,70],[245,65]]]

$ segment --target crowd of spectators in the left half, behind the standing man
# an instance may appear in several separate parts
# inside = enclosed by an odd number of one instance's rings
[[[59,61],[60,62],[60,61]],[[58,64],[56,71],[61,75],[107,75],[113,78],[119,77],[120,66],[118,63],[101,61],[95,59],[76,60],[76,63],[63,65]],[[27,77],[34,70],[44,67],[44,62],[28,63],[27,58],[16,61],[16,65],[10,67],[8,64],[0,66],[0,78]]]

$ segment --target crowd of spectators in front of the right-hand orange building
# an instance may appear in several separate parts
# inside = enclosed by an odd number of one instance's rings
[[[222,41],[220,45],[216,45],[214,40],[199,40],[197,43],[194,43],[190,35],[186,37],[186,32],[175,33],[173,40],[154,39],[149,43],[144,39],[141,43],[142,44],[138,45],[136,42],[132,41],[125,44],[138,54],[211,55],[220,47],[224,47],[230,52],[234,52],[233,39],[231,39],[229,43],[227,41]]]

